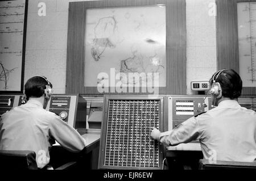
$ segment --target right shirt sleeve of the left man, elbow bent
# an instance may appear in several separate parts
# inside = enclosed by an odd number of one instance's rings
[[[85,140],[79,132],[57,115],[53,115],[53,119],[49,123],[49,135],[69,151],[79,152],[85,147]]]

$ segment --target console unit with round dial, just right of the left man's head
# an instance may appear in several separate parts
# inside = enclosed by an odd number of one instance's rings
[[[46,107],[73,128],[86,128],[86,101],[81,95],[52,95]]]

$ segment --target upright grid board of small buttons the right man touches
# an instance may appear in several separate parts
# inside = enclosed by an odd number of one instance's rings
[[[160,167],[160,145],[150,137],[159,129],[160,99],[109,99],[106,114],[103,166],[141,169]],[[106,113],[106,112],[105,112]]]

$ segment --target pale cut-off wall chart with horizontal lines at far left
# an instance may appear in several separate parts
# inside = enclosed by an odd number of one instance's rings
[[[0,91],[21,91],[26,0],[0,2]]]

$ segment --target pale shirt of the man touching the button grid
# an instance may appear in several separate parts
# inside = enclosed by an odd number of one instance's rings
[[[200,141],[205,159],[214,156],[220,161],[256,161],[256,112],[241,107],[236,100],[223,100],[218,107],[191,117],[171,132],[160,133],[160,142],[166,145],[192,140]]]

